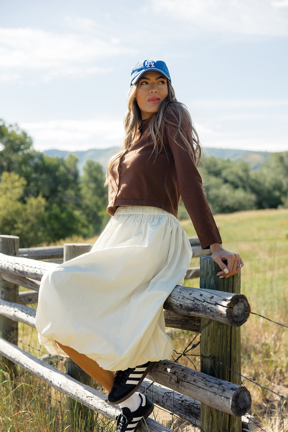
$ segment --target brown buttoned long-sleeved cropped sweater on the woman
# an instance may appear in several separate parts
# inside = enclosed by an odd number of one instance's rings
[[[181,127],[192,146],[188,121],[184,121]],[[143,122],[141,132],[139,140],[112,168],[108,213],[113,216],[118,206],[152,206],[177,217],[181,196],[202,248],[221,243],[194,155],[179,146],[179,136],[178,144],[175,143],[175,127],[164,131],[164,149],[156,160],[154,153],[151,156],[153,144],[149,136],[149,119]]]

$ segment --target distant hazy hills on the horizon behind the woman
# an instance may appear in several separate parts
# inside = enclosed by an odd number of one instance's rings
[[[95,162],[99,162],[103,167],[106,166],[108,160],[118,151],[118,147],[112,147],[110,149],[91,149],[77,152],[68,152],[66,150],[45,150],[44,153],[47,156],[60,156],[66,158],[69,153],[77,156],[79,159],[78,169],[80,174],[83,172],[83,167],[87,159],[92,159]],[[232,150],[232,149],[214,149],[211,147],[203,148],[205,156],[215,156],[221,159],[231,159],[233,161],[243,160],[247,162],[251,168],[257,169],[267,162],[271,153],[270,152],[253,152],[250,150]]]

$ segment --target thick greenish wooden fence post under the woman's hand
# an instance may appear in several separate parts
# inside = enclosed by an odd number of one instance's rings
[[[218,271],[218,264],[211,257],[200,257],[200,288],[240,294],[240,273],[219,279],[219,276],[216,276]],[[206,325],[207,327],[203,328]],[[200,327],[203,329],[200,339],[201,372],[241,385],[240,376],[232,372],[241,373],[240,327],[232,327],[206,318],[201,318]],[[218,361],[207,358],[210,356]],[[232,416],[201,403],[201,430],[241,432],[241,417]]]

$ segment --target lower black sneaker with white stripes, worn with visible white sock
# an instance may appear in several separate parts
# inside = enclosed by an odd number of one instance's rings
[[[136,411],[131,411],[129,408],[124,407],[122,413],[116,417],[117,429],[116,432],[134,432],[139,426],[140,422],[143,422],[154,410],[154,403],[149,397],[144,394],[138,393],[142,399],[140,407]]]

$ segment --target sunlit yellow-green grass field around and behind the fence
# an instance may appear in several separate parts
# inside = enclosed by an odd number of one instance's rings
[[[247,296],[251,311],[287,326],[288,210],[258,210],[216,215],[215,220],[224,247],[238,252],[244,261],[241,291]],[[195,235],[190,221],[181,223],[188,236]],[[66,239],[69,243],[93,243],[94,241],[95,238]],[[191,264],[199,265],[199,259],[193,258]],[[188,280],[184,285],[197,287],[199,280]],[[36,333],[22,325],[19,325],[19,330],[19,339],[22,340],[24,349],[35,356],[42,355],[39,352]],[[288,431],[288,400],[285,399],[288,398],[287,336],[287,328],[253,314],[241,327],[242,374],[264,388],[245,379],[243,383],[252,395],[251,413],[257,417],[258,423],[266,432]],[[183,352],[194,334],[171,330],[171,337],[176,351]],[[195,349],[193,363],[199,370],[199,347]],[[193,367],[187,359],[184,359],[184,364]],[[0,386],[1,431],[60,432],[65,430],[66,408],[63,396],[27,373],[22,376],[21,370],[19,370],[19,377],[11,381],[3,367],[0,379],[2,383]],[[275,393],[266,390],[266,387]],[[158,419],[161,421],[161,412],[158,414]],[[95,416],[93,421],[95,431],[104,429],[108,432],[113,429],[111,423],[105,422],[99,416]],[[181,425],[179,430],[184,431],[185,428],[186,426]],[[75,431],[84,429],[84,426],[74,427]],[[262,429],[256,427],[255,430]]]

